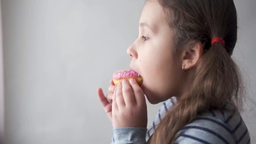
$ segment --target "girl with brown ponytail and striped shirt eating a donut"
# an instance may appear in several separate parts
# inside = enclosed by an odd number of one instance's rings
[[[231,58],[236,14],[233,0],[147,0],[127,50],[143,84],[111,81],[106,97],[98,88],[112,143],[250,143],[237,110],[243,82]],[[144,94],[151,104],[164,101],[149,131]]]

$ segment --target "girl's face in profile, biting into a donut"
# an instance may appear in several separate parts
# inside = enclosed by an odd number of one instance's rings
[[[139,37],[127,49],[131,69],[143,77],[142,90],[151,104],[179,93],[181,62],[173,53],[173,30],[157,0],[149,0],[141,13]]]

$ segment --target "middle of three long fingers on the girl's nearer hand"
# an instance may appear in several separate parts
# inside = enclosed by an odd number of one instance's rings
[[[125,81],[126,82],[123,83],[123,88],[122,88],[125,106],[134,106],[135,98],[134,98],[133,91],[131,89],[129,82],[127,80]]]

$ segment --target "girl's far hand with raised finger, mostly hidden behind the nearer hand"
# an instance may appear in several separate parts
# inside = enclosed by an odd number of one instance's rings
[[[106,96],[104,95],[101,88],[97,89],[99,101],[101,101],[101,105],[104,108],[111,122],[112,122],[112,99],[113,99],[113,92],[115,87],[116,86],[114,85],[113,80],[110,80],[110,86],[108,89],[108,94]]]

